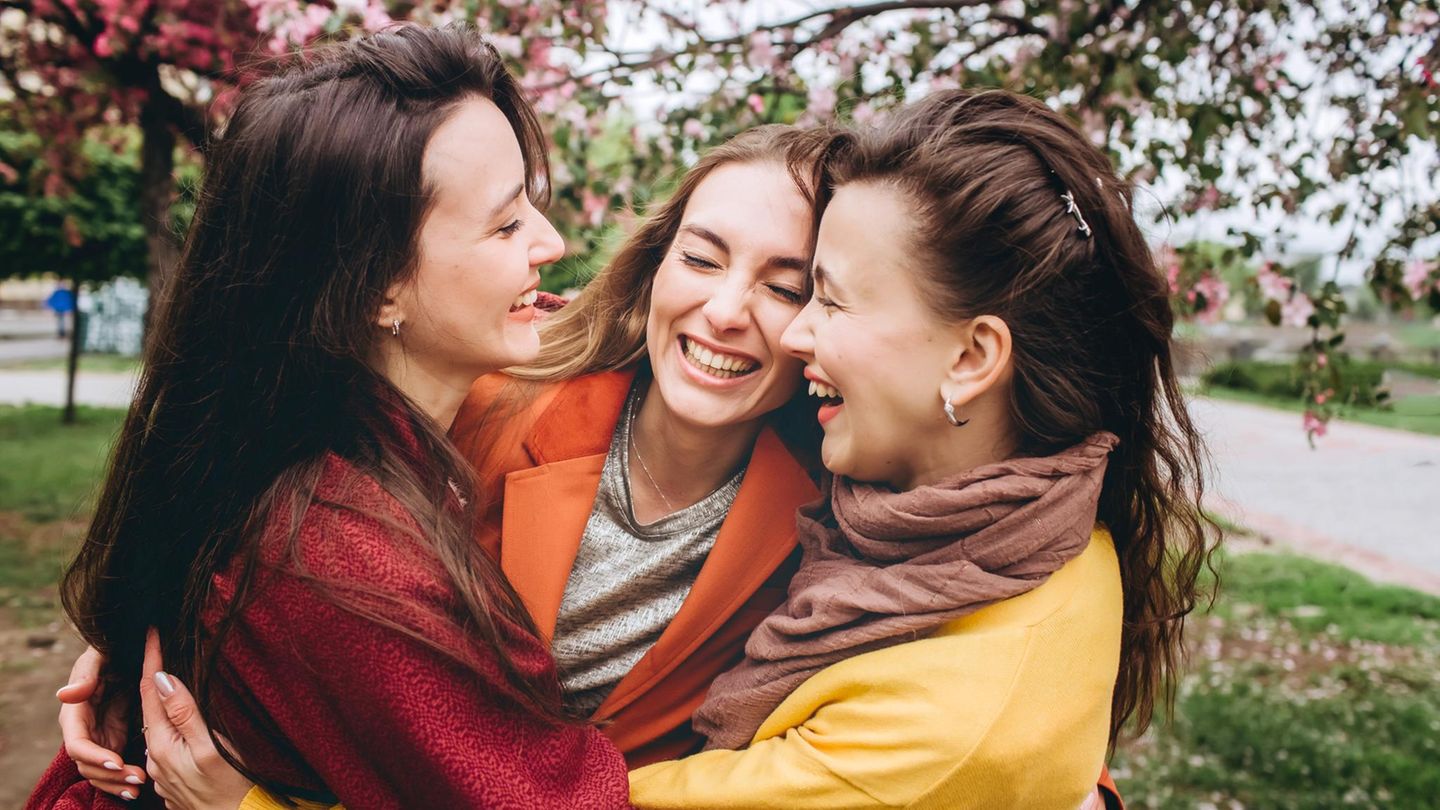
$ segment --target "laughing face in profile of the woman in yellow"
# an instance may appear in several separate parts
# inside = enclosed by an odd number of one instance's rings
[[[953,326],[910,268],[912,216],[888,187],[840,187],[819,226],[815,295],[783,337],[825,402],[825,467],[899,489],[948,463],[953,432],[940,409]]]

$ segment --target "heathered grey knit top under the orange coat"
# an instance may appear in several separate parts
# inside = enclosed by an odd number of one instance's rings
[[[654,523],[636,522],[629,437],[638,391],[631,391],[611,437],[552,644],[564,702],[585,715],[605,702],[675,618],[744,477],[742,467],[698,503]]]

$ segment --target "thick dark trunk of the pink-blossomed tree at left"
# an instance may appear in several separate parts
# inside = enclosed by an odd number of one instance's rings
[[[147,340],[150,314],[156,311],[180,261],[180,239],[170,222],[170,203],[176,189],[177,123],[171,121],[167,112],[174,104],[160,86],[158,72],[148,84],[145,102],[140,108],[140,216],[145,225],[150,285],[150,307],[145,311]]]

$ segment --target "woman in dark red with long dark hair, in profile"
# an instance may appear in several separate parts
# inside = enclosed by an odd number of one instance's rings
[[[312,50],[242,92],[62,587],[104,695],[135,693],[156,628],[217,751],[274,790],[626,806],[619,751],[570,718],[475,543],[487,493],[445,435],[477,376],[539,352],[546,189],[534,112],[465,27]],[[143,761],[140,706],[118,726]],[[62,752],[29,806],[121,804],[81,777]]]

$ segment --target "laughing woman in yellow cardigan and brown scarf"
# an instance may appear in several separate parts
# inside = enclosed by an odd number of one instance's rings
[[[1034,99],[932,95],[828,170],[783,339],[828,499],[696,713],[711,749],[631,800],[1073,810],[1172,695],[1212,549],[1165,280],[1129,187]]]

